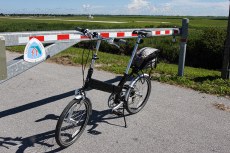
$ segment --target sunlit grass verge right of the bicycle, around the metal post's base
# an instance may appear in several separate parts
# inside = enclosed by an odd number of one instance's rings
[[[177,76],[178,66],[160,63],[155,80],[192,88],[201,92],[230,96],[230,80],[220,78],[220,72],[200,68],[185,67],[184,77]]]

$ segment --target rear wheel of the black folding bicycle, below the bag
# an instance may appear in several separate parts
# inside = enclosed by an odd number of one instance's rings
[[[147,74],[137,76],[131,82],[131,88],[127,92],[126,110],[130,114],[138,113],[148,101],[151,93],[151,80]]]

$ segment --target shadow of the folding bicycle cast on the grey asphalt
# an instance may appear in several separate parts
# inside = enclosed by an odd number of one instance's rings
[[[124,127],[110,123],[109,120],[118,119],[123,116],[116,116],[111,114],[111,110],[97,111],[92,110],[92,115],[88,126],[91,126],[87,133],[92,135],[99,135],[102,132],[97,130],[100,123],[106,123],[112,126]],[[35,122],[43,122],[46,120],[57,121],[59,116],[55,114],[47,114],[45,117],[36,120]],[[11,149],[11,147],[17,147],[16,153],[29,152],[44,152],[44,153],[55,153],[60,152],[63,148],[59,147],[55,141],[55,130],[39,133],[29,137],[0,137],[0,148]]]

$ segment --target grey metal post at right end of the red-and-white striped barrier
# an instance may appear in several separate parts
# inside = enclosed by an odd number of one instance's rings
[[[180,55],[179,55],[179,67],[178,67],[178,76],[184,75],[184,65],[185,65],[185,56],[187,48],[187,38],[188,38],[188,24],[189,19],[185,18],[182,20],[182,35],[180,42]]]

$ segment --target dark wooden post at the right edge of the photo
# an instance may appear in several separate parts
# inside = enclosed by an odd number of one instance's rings
[[[229,15],[228,15],[227,38],[225,41],[225,48],[223,53],[223,67],[222,67],[221,77],[223,79],[230,79],[230,5],[229,5]]]

